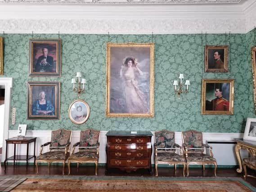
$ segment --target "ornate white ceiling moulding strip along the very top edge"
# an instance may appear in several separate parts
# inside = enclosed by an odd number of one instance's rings
[[[0,3],[59,4],[238,4],[243,0],[0,0]]]

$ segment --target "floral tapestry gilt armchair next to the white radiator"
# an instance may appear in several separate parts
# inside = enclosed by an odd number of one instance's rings
[[[203,175],[205,174],[205,165],[214,165],[214,174],[216,176],[217,162],[213,157],[212,147],[202,143],[202,132],[188,130],[182,132],[183,149],[187,161],[187,176],[189,176],[189,165],[202,165]],[[205,152],[208,150],[210,155]]]

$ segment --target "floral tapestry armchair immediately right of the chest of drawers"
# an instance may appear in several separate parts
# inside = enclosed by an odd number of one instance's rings
[[[180,155],[176,152],[180,151]],[[176,175],[176,165],[183,165],[183,176],[185,176],[186,160],[182,153],[182,148],[175,143],[175,133],[169,130],[155,132],[155,169],[157,165],[174,165]]]

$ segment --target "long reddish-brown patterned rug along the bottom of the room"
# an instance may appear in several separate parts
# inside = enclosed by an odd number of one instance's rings
[[[31,178],[11,192],[253,192],[239,178]]]

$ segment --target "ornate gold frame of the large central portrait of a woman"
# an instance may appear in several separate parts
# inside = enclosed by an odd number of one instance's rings
[[[107,43],[107,66],[106,66],[106,117],[154,117],[154,43]],[[149,110],[147,113],[121,113],[110,112],[110,85],[111,85],[111,48],[120,48],[120,52],[123,48],[145,48],[148,47],[149,53]],[[125,58],[127,53],[121,53]],[[130,55],[135,57],[134,55]],[[120,62],[121,63],[121,62]]]

